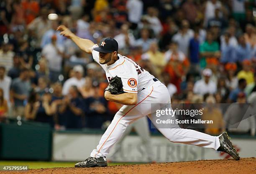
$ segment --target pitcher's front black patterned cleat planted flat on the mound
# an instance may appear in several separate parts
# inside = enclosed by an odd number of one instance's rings
[[[108,166],[106,157],[89,157],[85,161],[75,164],[75,167],[105,167]]]

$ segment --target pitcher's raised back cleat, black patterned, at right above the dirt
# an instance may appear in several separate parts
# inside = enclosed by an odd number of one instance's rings
[[[217,151],[223,151],[223,152],[229,154],[230,156],[232,156],[233,159],[238,161],[240,159],[240,156],[237,153],[236,148],[231,143],[230,137],[228,136],[228,133],[223,132],[219,136],[219,140],[220,140],[220,147],[217,149]]]

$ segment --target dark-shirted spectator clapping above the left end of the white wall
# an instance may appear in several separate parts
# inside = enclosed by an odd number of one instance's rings
[[[82,128],[83,127],[83,117],[84,117],[84,102],[81,97],[79,97],[79,91],[76,86],[71,86],[69,88],[68,95],[62,100],[60,107],[60,113],[63,113],[67,118],[66,128]]]

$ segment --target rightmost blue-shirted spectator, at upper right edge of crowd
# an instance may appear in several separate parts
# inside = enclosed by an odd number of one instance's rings
[[[251,59],[251,44],[246,42],[243,35],[238,38],[238,46],[236,47],[236,61],[242,62],[245,59]]]

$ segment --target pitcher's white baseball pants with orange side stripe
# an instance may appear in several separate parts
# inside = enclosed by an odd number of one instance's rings
[[[110,148],[123,136],[125,129],[135,120],[148,115],[154,124],[156,117],[155,109],[151,108],[152,103],[169,103],[171,99],[169,92],[164,84],[159,81],[149,82],[146,89],[138,92],[138,103],[136,105],[124,105],[115,114],[111,124],[101,137],[97,148],[91,153],[91,157],[103,157],[109,154]],[[156,128],[171,142],[185,143],[195,146],[213,148],[217,150],[220,147],[218,136],[210,136],[205,133],[190,129],[179,128],[175,125],[173,128],[161,128],[159,124],[154,124]]]

